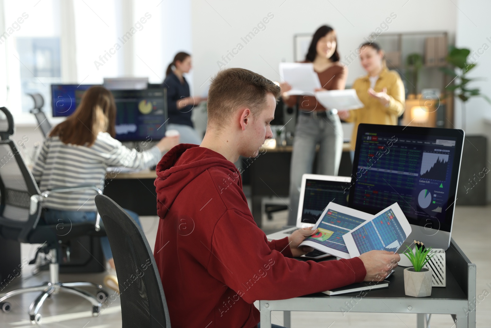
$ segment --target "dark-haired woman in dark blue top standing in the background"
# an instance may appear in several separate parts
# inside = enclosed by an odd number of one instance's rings
[[[167,67],[164,80],[164,87],[167,88],[167,113],[169,116],[167,129],[179,131],[181,143],[199,145],[202,138],[192,124],[191,109],[205,98],[190,96],[189,84],[183,76],[190,69],[191,55],[185,52],[178,53]]]

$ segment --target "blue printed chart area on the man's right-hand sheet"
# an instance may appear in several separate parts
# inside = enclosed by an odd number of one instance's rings
[[[407,237],[391,209],[351,234],[360,254],[374,249],[395,252]]]

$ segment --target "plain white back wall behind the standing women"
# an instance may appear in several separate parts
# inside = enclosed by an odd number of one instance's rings
[[[337,31],[341,57],[355,51],[364,42],[363,38],[380,27],[392,12],[397,17],[388,25],[386,33],[445,30],[452,42],[456,30],[457,8],[448,0],[191,1],[196,94],[200,94],[205,81],[218,72],[217,61],[238,43],[242,43],[244,49],[234,58],[229,57],[231,60],[225,67],[243,67],[279,80],[278,63],[293,61],[294,34],[313,33],[324,24]],[[270,12],[274,17],[266,24],[266,29],[245,44],[241,37]],[[348,84],[363,74],[357,60],[348,69]]]

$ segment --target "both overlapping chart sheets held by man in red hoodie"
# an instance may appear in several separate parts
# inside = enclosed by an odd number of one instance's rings
[[[314,227],[319,232],[306,245],[343,259],[368,251],[397,252],[411,233],[408,219],[397,203],[372,215],[330,202]]]

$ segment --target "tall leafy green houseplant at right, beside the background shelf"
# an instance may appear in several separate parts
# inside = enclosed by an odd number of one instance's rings
[[[441,67],[440,70],[446,75],[450,76],[455,83],[445,87],[445,89],[451,91],[459,97],[462,101],[462,128],[465,130],[465,103],[470,97],[480,96],[486,99],[491,104],[488,96],[481,94],[479,88],[469,87],[469,83],[472,81],[481,80],[481,78],[469,78],[467,73],[476,67],[475,63],[467,61],[470,50],[465,48],[456,48],[450,46],[449,53],[445,60],[452,67]]]

